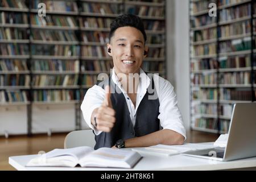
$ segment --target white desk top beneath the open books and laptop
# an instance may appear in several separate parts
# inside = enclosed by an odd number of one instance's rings
[[[212,143],[211,143],[212,144]],[[126,148],[126,150],[130,150]],[[35,158],[36,155],[23,155],[9,157],[9,164],[18,170],[135,170],[135,171],[151,171],[151,170],[221,170],[221,169],[237,169],[237,168],[255,168],[256,157],[233,160],[230,162],[218,162],[215,160],[193,158],[184,155],[149,155],[142,154],[143,158],[132,169],[122,168],[82,168],[82,167],[25,167],[27,162]]]

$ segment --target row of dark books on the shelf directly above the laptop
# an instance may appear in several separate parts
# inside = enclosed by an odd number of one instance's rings
[[[220,88],[220,100],[251,101],[251,90],[247,88]]]

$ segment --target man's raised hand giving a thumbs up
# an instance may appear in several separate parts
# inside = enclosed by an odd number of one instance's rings
[[[112,102],[110,99],[110,86],[105,87],[105,99],[102,105],[93,110],[91,123],[96,126],[97,130],[110,132],[114,127],[115,123],[115,110],[112,107]],[[96,123],[94,121],[94,116],[96,117]]]

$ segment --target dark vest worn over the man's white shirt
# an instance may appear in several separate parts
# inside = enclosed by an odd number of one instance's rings
[[[104,89],[105,85],[109,85],[110,89],[115,90],[111,92],[111,101],[113,109],[115,110],[115,124],[109,133],[102,132],[100,135],[95,135],[96,144],[94,149],[101,147],[113,147],[118,139],[129,139],[134,137],[141,137],[158,131],[160,129],[159,115],[159,99],[148,100],[148,96],[154,93],[149,93],[148,88],[151,86],[151,90],[154,88],[154,80],[151,77],[150,85],[147,88],[147,92],[144,95],[136,113],[135,126],[131,122],[130,111],[128,109],[125,96],[117,85],[113,82],[111,76],[109,79],[105,79],[98,83]]]

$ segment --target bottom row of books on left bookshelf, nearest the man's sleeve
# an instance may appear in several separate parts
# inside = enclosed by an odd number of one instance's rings
[[[34,90],[33,101],[60,102],[80,100],[79,90]]]

